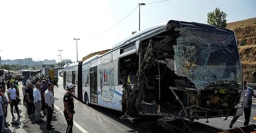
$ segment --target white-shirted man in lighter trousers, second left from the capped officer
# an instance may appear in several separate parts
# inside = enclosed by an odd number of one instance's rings
[[[36,123],[43,122],[42,119],[40,118],[40,112],[41,112],[41,94],[39,92],[40,87],[41,87],[41,84],[37,82],[33,90],[34,106],[35,106],[34,116],[35,116]]]

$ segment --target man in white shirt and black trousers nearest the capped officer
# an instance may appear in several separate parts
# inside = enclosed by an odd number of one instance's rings
[[[44,99],[46,103],[46,108],[48,111],[48,116],[47,116],[47,125],[46,128],[47,130],[53,130],[55,129],[53,125],[51,125],[52,121],[52,113],[53,113],[53,104],[54,104],[54,97],[52,96],[52,89],[53,85],[50,83],[47,85],[47,90],[44,92]]]

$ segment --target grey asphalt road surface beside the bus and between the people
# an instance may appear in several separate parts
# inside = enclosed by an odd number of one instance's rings
[[[59,80],[59,87],[54,87],[55,108],[52,119],[52,124],[56,128],[54,131],[46,130],[46,118],[44,118],[44,123],[35,123],[34,117],[28,118],[25,106],[20,104],[19,109],[23,118],[16,119],[20,122],[20,125],[11,125],[9,127],[11,130],[5,133],[64,133],[66,131],[66,121],[62,111],[64,110],[63,96],[66,91],[62,87],[62,77],[59,77]],[[21,87],[22,85],[20,85],[20,96],[22,98]],[[119,119],[122,115],[120,111],[94,105],[86,106],[76,99],[74,99],[74,105],[76,114],[74,114],[73,133],[162,133],[155,121],[130,123]],[[251,114],[251,122],[253,122],[256,110],[252,109]],[[17,114],[15,116],[17,117]],[[209,123],[205,123],[206,119],[198,121],[217,128],[229,129],[230,119],[232,117],[229,117],[226,121],[223,121],[224,118],[211,118]],[[8,113],[7,122],[11,121],[11,115]],[[243,121],[244,116],[240,116],[233,127],[243,126]]]

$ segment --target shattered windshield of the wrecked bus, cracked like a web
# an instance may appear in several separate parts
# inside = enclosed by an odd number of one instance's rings
[[[236,38],[220,31],[177,27],[175,74],[187,77],[197,89],[240,82],[241,64]]]

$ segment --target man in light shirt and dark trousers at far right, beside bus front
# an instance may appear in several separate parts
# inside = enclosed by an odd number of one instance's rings
[[[254,90],[250,87],[246,86],[246,81],[244,81],[244,126],[249,125],[250,117],[251,117],[251,104],[252,104],[252,97],[256,98],[256,93]],[[229,128],[232,128],[233,124],[236,122],[236,120],[239,118],[233,117],[231,123],[229,124]]]

